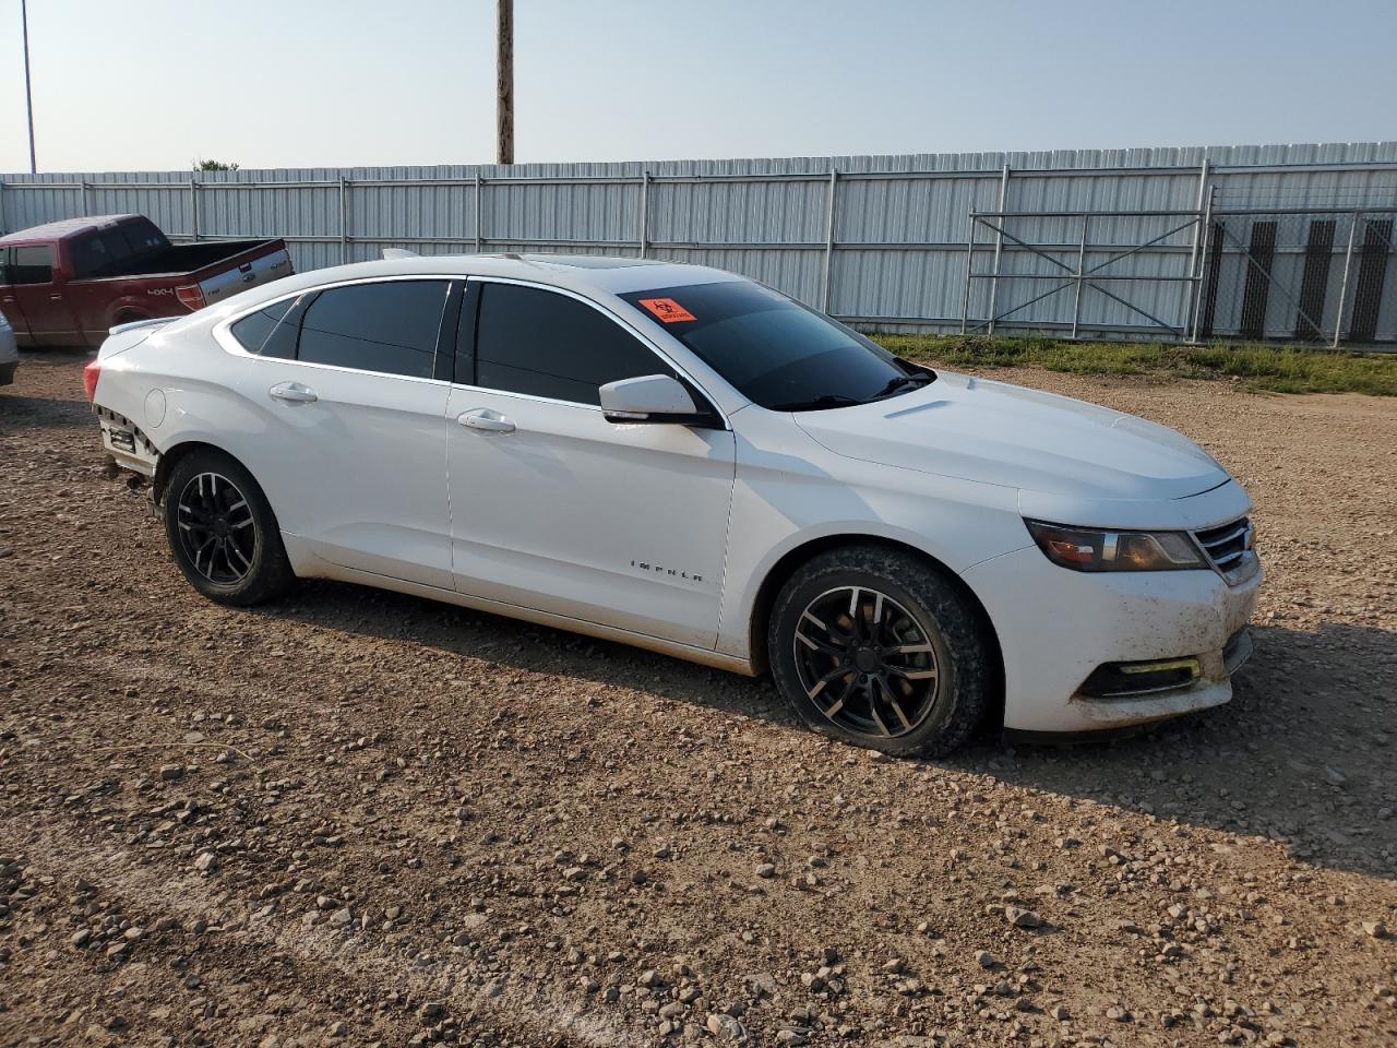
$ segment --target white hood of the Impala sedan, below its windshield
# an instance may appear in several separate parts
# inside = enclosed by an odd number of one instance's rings
[[[1049,495],[1183,499],[1228,481],[1207,451],[1166,426],[964,374],[795,421],[848,458]]]

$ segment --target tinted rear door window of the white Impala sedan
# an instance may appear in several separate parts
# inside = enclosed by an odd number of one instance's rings
[[[430,379],[447,288],[387,281],[323,291],[305,310],[296,358]]]

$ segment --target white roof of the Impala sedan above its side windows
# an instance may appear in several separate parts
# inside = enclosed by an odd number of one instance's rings
[[[270,300],[324,284],[415,275],[499,277],[546,284],[581,295],[623,295],[651,288],[746,279],[708,265],[602,254],[430,254],[306,270],[271,284],[263,284],[235,298],[240,303],[251,305],[254,300]]]

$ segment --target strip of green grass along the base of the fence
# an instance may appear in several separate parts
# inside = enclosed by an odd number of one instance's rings
[[[946,367],[1046,367],[1074,374],[1239,379],[1267,393],[1366,393],[1397,397],[1397,354],[1305,347],[1070,342],[983,335],[873,335],[898,356]]]

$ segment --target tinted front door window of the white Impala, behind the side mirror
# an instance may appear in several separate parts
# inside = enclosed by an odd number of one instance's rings
[[[620,324],[584,302],[515,284],[481,285],[476,384],[577,404],[598,386],[673,370]]]

